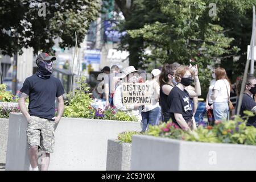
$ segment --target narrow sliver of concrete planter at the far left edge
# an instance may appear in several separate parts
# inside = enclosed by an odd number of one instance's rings
[[[5,164],[9,119],[0,118],[0,164]]]

